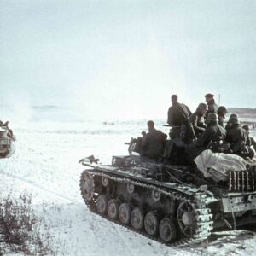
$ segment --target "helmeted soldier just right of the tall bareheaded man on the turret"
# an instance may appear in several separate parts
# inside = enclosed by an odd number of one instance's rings
[[[195,113],[192,113],[189,118],[189,125],[192,125],[191,130],[189,132],[190,138],[197,138],[200,137],[201,134],[205,131],[207,128],[207,125],[205,123],[205,115],[207,113],[207,104],[206,103],[200,103],[198,107],[195,110]]]

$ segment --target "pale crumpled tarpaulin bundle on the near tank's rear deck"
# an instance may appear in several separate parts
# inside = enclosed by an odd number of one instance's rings
[[[195,158],[195,164],[204,177],[212,177],[218,182],[227,180],[228,171],[246,170],[248,163],[236,154],[213,153],[207,149]]]

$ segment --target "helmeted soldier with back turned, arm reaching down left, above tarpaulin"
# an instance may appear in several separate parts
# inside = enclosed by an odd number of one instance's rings
[[[189,162],[201,154],[205,149],[212,149],[213,152],[221,152],[221,146],[224,144],[226,131],[218,125],[217,113],[209,113],[207,117],[207,129],[203,132],[201,137],[196,139],[188,148]],[[225,149],[224,150],[228,150]]]

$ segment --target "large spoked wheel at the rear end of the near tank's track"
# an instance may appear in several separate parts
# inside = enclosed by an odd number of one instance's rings
[[[177,208],[177,223],[185,236],[192,236],[195,233],[195,212],[193,206],[183,201]]]

